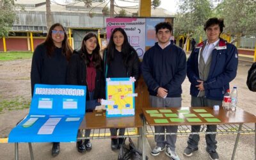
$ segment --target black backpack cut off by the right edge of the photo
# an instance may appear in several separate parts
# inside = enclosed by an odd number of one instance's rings
[[[256,62],[254,62],[250,70],[248,70],[246,84],[249,90],[256,92]]]

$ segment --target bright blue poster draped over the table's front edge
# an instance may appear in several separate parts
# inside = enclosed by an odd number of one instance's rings
[[[28,116],[8,142],[73,142],[85,114],[86,86],[35,84]]]

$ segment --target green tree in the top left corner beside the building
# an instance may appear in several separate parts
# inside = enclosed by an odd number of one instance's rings
[[[8,36],[16,20],[14,0],[1,0],[0,10],[0,36]]]

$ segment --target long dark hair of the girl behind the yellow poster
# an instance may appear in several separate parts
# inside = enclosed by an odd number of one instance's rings
[[[120,31],[122,33],[122,35],[124,35],[124,43],[122,44],[122,52],[123,52],[123,62],[125,67],[128,66],[128,58],[129,55],[131,54],[131,52],[136,53],[136,51],[134,50],[134,48],[129,44],[128,42],[128,37],[124,31],[124,29],[122,28],[115,28],[113,29],[109,42],[108,42],[108,54],[107,54],[107,63],[111,63],[111,61],[113,61],[114,59],[114,52],[115,52],[115,43],[114,43],[114,34],[116,33],[116,31]]]

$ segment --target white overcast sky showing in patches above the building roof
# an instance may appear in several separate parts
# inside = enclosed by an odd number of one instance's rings
[[[63,3],[66,0],[52,0],[52,1],[56,1],[57,3]],[[72,1],[72,0],[69,0]],[[116,3],[120,6],[134,6],[136,5],[136,3],[125,3],[124,1],[118,1],[115,0]],[[161,0],[161,5],[159,6],[160,8],[164,8],[165,10],[168,10],[169,12],[172,13],[176,13],[177,12],[177,3],[179,1],[178,0]]]

